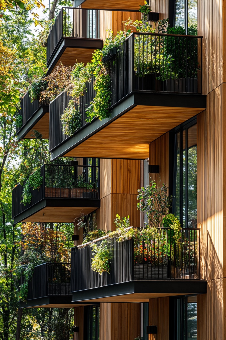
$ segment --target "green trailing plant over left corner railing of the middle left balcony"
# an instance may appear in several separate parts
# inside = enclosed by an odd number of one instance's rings
[[[28,180],[25,182],[22,191],[22,201],[24,205],[30,203],[32,200],[32,191],[35,189],[39,189],[42,185],[42,176],[41,176],[41,169],[37,169],[33,174],[31,174]]]

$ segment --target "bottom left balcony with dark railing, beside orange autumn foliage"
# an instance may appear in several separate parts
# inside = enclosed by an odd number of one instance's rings
[[[26,302],[20,301],[19,308],[74,307],[71,299],[70,263],[43,263],[35,267]]]

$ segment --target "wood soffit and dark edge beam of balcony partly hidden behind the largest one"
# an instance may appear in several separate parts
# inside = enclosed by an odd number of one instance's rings
[[[43,139],[49,138],[49,106],[42,105],[32,115],[32,117],[18,131],[18,139],[35,138],[34,131],[37,130],[42,134]]]

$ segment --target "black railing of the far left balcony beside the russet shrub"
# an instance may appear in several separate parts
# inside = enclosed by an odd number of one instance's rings
[[[27,92],[20,102],[21,109],[19,110],[19,115],[22,116],[22,125],[21,127],[34,115],[34,113],[38,110],[38,108],[42,104],[38,99],[35,99],[33,102],[30,99],[29,92]],[[21,129],[16,128],[16,132]]]

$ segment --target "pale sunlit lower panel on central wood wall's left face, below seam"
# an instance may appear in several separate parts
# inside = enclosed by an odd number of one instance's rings
[[[100,200],[100,208],[96,212],[98,228],[111,230],[111,194]]]

